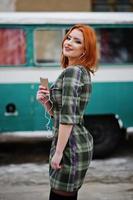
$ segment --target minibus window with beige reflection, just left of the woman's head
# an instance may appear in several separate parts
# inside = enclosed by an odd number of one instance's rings
[[[37,30],[35,32],[36,63],[59,63],[62,31]]]

